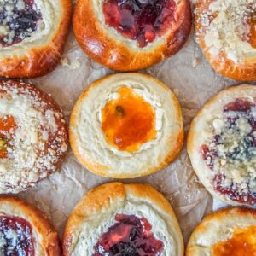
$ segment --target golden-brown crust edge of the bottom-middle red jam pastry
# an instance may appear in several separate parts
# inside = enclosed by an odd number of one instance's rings
[[[177,218],[170,203],[156,189],[148,184],[106,183],[87,192],[73,209],[63,233],[63,256],[71,255],[69,248],[72,243],[73,231],[76,230],[80,224],[86,222],[86,219],[92,214],[96,215],[97,212],[103,211],[104,208],[111,207],[111,205],[117,204],[119,201],[125,201],[127,194],[132,194],[140,199],[145,199],[145,201],[153,202],[155,207],[160,208],[160,212],[163,212],[163,214],[168,215],[169,218],[174,220],[172,222],[173,229],[177,230],[177,233],[180,233],[180,228],[176,221]],[[180,250],[183,252],[182,236],[180,245]]]

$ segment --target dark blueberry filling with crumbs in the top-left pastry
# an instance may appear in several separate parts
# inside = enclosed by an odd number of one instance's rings
[[[34,0],[0,1],[0,45],[20,43],[37,31],[42,15]]]

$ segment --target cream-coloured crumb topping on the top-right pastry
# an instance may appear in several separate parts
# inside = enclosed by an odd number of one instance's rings
[[[199,12],[195,9],[195,15]],[[255,12],[255,0],[212,1],[208,9],[197,16],[196,22],[201,23],[197,37],[204,35],[204,43],[214,57],[223,54],[222,58],[244,63],[247,57],[256,55],[256,49],[250,44]]]

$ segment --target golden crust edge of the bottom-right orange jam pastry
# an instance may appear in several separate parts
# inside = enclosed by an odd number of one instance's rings
[[[206,236],[206,233],[209,232],[207,224],[212,224],[212,232],[219,230],[213,230],[214,223],[218,224],[225,224],[226,219],[229,218],[238,218],[242,219],[246,222],[247,218],[253,218],[256,223],[256,210],[250,208],[243,208],[243,207],[230,207],[218,210],[217,212],[212,212],[207,217],[203,218],[201,223],[195,227],[195,230],[192,232],[191,236],[189,237],[188,246],[186,248],[186,256],[199,256],[198,249],[196,245],[196,238],[199,236],[203,237]],[[234,222],[234,228],[236,228],[236,222]],[[225,232],[225,230],[223,230]],[[211,254],[212,255],[212,254]]]

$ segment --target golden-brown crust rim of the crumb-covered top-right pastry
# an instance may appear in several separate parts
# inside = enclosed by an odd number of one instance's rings
[[[249,63],[241,64],[229,60],[224,54],[211,55],[207,50],[204,33],[206,27],[201,23],[201,14],[208,9],[210,3],[215,0],[199,0],[195,3],[195,33],[198,34],[199,45],[206,55],[207,61],[212,65],[213,69],[225,77],[241,81],[256,80],[256,60]],[[221,60],[220,60],[221,59]],[[224,61],[223,61],[224,59]]]

